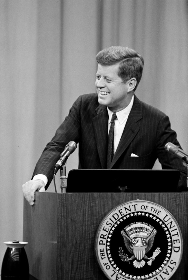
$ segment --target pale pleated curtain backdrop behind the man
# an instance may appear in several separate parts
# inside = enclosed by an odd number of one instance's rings
[[[136,94],[169,116],[188,152],[188,5],[185,0],[0,0],[0,43],[1,265],[3,241],[22,240],[21,186],[74,100],[95,92],[99,50],[122,45],[143,56]],[[77,167],[78,149],[67,172]]]

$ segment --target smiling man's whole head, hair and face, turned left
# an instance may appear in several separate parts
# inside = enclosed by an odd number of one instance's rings
[[[143,58],[127,47],[110,47],[96,56],[98,62],[95,86],[99,104],[118,112],[126,108],[143,71]]]

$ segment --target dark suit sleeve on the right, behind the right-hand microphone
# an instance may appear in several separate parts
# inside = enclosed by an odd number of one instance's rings
[[[179,146],[180,143],[177,140],[177,135],[170,127],[170,121],[168,116],[163,116],[158,124],[156,135],[156,153],[158,160],[161,163],[162,169],[176,169],[180,171],[180,180],[178,183],[178,191],[187,191],[187,170],[183,165],[183,162],[176,155],[171,154],[165,150],[165,144],[168,142]]]

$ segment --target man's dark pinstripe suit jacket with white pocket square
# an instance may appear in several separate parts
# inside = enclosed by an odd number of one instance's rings
[[[79,168],[105,169],[107,134],[106,106],[99,105],[97,94],[80,96],[45,147],[33,175],[45,174],[48,177],[47,188],[60,153],[69,141],[79,142]],[[165,151],[167,142],[179,145],[176,132],[170,128],[169,118],[134,96],[134,104],[110,168],[152,169],[158,158],[163,169],[180,170],[179,184],[186,186],[186,169],[180,159]],[[131,153],[138,157],[130,157]]]

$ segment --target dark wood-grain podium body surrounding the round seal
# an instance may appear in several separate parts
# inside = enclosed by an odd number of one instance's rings
[[[172,280],[188,277],[188,193],[35,193],[24,199],[23,241],[30,274],[38,280],[105,280],[95,259],[97,228],[121,203],[148,200],[176,219],[183,236],[183,256]]]

